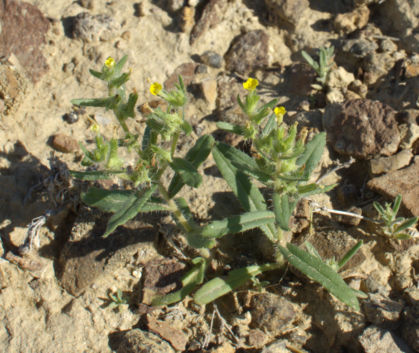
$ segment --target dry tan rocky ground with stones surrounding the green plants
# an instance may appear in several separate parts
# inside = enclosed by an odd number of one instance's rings
[[[261,99],[286,107],[286,123],[327,131],[314,178],[355,159],[323,180],[339,185],[316,199],[322,206],[377,217],[372,201],[400,193],[400,215],[419,215],[418,16],[414,0],[0,0],[0,351],[419,351],[416,238],[388,241],[372,223],[328,212],[314,213],[310,230],[303,202],[294,243],[310,239],[340,258],[364,240],[342,271],[369,295],[359,312],[291,271],[266,273],[262,293],[249,285],[215,305],[186,297],[150,307],[150,295],[178,289],[187,269],[176,225],[142,215],[102,239],[109,215],[83,205],[86,185],[67,174],[81,169],[77,141],[92,142],[92,122],[112,133],[110,115],[70,100],[102,95],[88,69],[128,54],[139,117],[145,102],[159,104],[146,77],[166,87],[185,77],[194,132],[183,146],[212,133],[242,148],[215,123],[243,118],[235,97],[256,77]],[[331,45],[335,64],[313,88],[301,52],[317,60]],[[182,194],[197,222],[242,212],[211,156],[200,172],[202,187]],[[40,248],[25,254],[28,225]],[[208,276],[268,261],[264,249],[257,231],[227,236]],[[122,312],[107,307],[118,288],[129,298]]]

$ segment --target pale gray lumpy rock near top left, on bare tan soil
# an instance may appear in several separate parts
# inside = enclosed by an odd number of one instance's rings
[[[114,18],[101,14],[79,13],[73,24],[73,37],[86,43],[109,41],[121,33],[122,26]]]

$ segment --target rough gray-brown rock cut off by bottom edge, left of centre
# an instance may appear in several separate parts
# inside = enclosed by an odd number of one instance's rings
[[[157,335],[138,328],[128,331],[117,353],[175,353],[175,350]]]

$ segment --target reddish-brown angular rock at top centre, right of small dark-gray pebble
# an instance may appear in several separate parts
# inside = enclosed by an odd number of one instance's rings
[[[242,34],[225,54],[226,68],[245,74],[268,64],[269,36],[261,29]]]

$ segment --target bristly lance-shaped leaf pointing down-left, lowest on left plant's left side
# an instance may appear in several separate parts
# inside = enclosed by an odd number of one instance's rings
[[[153,194],[156,185],[147,187],[145,190],[138,190],[132,194],[127,201],[124,202],[124,205],[111,217],[106,228],[103,238],[106,238],[111,234],[118,225],[122,225],[127,220],[134,218],[138,212],[141,211],[142,206],[147,202],[151,195]]]

